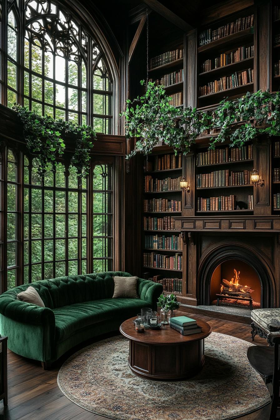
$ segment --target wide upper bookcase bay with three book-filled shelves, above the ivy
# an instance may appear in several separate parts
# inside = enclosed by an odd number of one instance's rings
[[[254,15],[254,24],[246,27],[251,24],[248,19],[251,15]],[[240,28],[243,25],[245,29],[239,29],[238,23],[238,32],[222,36],[224,33],[236,30],[236,22],[238,21],[241,21]],[[197,48],[197,108],[216,106],[225,97],[235,99],[247,92],[254,92],[254,80],[256,79],[256,75],[253,75],[255,73],[255,22],[255,11],[251,7],[198,29],[198,45],[200,36],[203,37],[203,40],[206,37],[205,42],[212,36],[220,37]],[[216,31],[215,36],[214,31]],[[233,60],[237,61],[232,62]],[[205,71],[205,65],[208,67],[208,63],[206,63],[208,61],[212,63],[212,69]],[[221,66],[221,64],[225,65]],[[247,81],[247,83],[241,84],[242,81]],[[217,90],[220,87],[226,87],[226,89]],[[215,92],[215,90],[217,91]]]

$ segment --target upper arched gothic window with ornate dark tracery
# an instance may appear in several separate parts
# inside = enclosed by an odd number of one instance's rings
[[[112,78],[101,47],[83,25],[55,1],[1,5],[7,29],[0,45],[3,105],[17,102],[112,134]]]

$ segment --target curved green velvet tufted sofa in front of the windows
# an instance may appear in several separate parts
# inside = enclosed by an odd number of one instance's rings
[[[0,333],[8,336],[9,349],[40,360],[46,367],[76,344],[117,331],[142,307],[156,309],[161,284],[139,278],[139,298],[113,299],[113,276],[131,274],[110,271],[31,283],[45,307],[17,299],[30,284],[4,292],[0,295]]]

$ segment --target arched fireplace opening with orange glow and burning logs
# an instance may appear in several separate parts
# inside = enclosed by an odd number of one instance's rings
[[[210,283],[210,302],[220,306],[261,307],[259,276],[247,262],[229,259],[217,265]]]

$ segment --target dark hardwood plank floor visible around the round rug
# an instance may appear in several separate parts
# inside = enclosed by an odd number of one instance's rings
[[[185,314],[186,312],[184,312]],[[190,313],[189,316],[194,317],[194,314]],[[251,342],[250,325],[210,318],[200,314],[197,314],[196,318],[209,323],[213,331]],[[105,336],[102,336],[103,338]],[[0,419],[104,420],[106,417],[90,413],[71,402],[63,395],[57,384],[60,366],[70,354],[86,344],[72,349],[71,353],[66,354],[52,367],[52,370],[45,371],[39,362],[24,359],[8,350],[8,407],[3,407],[3,403],[0,402]],[[265,345],[266,341],[256,336],[255,344]],[[270,407],[266,406],[241,418],[242,420],[266,420],[269,418],[269,412]]]

